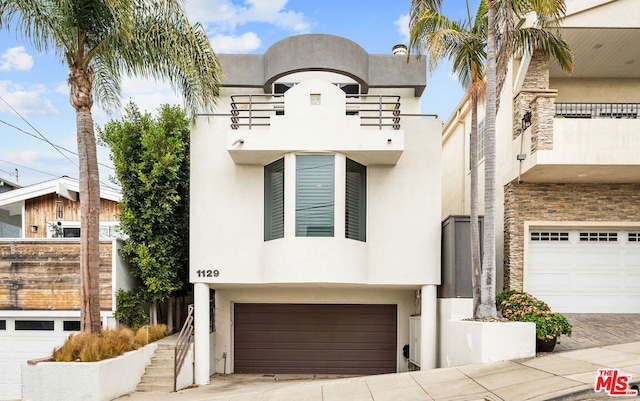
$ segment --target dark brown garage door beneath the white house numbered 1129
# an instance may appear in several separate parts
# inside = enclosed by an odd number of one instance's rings
[[[396,372],[396,305],[235,304],[235,373]]]

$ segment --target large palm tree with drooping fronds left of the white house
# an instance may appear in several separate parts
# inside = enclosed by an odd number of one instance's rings
[[[121,79],[167,79],[194,115],[215,104],[221,69],[204,28],[179,0],[0,0],[0,29],[15,28],[69,67],[81,202],[81,329],[100,333],[100,180],[91,108],[119,106]]]

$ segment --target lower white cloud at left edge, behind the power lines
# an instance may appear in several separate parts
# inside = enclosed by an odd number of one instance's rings
[[[0,96],[6,101],[0,102],[0,113],[12,112],[15,109],[23,117],[57,116],[60,114],[51,100],[45,97],[44,85],[33,85],[24,89],[21,85],[10,81],[0,81]],[[7,105],[7,103],[9,105]]]

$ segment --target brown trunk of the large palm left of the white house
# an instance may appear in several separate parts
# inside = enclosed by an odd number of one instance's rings
[[[71,68],[70,103],[76,110],[80,173],[80,328],[100,334],[100,178],[91,106],[92,72]]]

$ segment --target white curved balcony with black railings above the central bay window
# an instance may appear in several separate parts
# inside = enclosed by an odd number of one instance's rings
[[[337,152],[366,165],[395,165],[404,151],[400,96],[348,95],[329,84],[285,95],[231,96],[227,151],[236,164],[292,152]]]

